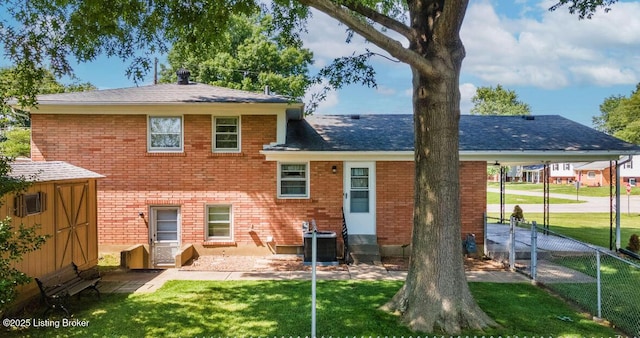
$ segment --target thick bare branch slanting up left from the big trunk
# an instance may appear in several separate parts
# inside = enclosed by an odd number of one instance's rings
[[[301,4],[313,7],[330,17],[342,22],[354,32],[360,34],[376,46],[387,51],[391,56],[415,68],[427,77],[436,77],[438,74],[433,65],[427,62],[424,56],[404,48],[402,44],[389,36],[376,30],[370,24],[357,18],[350,9],[340,6],[331,0],[299,0]]]

